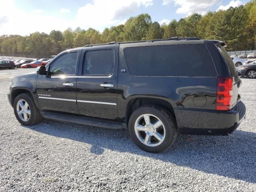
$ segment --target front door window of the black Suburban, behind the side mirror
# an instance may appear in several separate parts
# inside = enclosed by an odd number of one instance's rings
[[[58,57],[50,65],[51,75],[74,75],[76,74],[76,62],[78,52],[66,53]]]

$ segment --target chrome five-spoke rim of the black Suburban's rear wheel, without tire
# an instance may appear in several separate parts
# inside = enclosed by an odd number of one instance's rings
[[[160,145],[166,133],[162,121],[152,114],[139,116],[135,121],[134,130],[140,142],[149,147]]]

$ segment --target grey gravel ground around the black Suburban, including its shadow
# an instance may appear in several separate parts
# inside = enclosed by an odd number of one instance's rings
[[[179,135],[162,154],[124,130],[43,120],[21,126],[0,70],[0,191],[256,191],[256,79],[242,79],[246,119],[230,136]]]

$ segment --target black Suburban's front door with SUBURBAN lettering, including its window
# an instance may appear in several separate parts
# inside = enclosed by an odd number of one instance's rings
[[[78,52],[64,53],[48,66],[48,75],[38,75],[36,93],[41,110],[78,114],[76,79]]]

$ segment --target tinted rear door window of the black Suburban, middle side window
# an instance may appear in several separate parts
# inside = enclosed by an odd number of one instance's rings
[[[86,52],[83,75],[110,75],[113,69],[113,50],[92,50]]]

